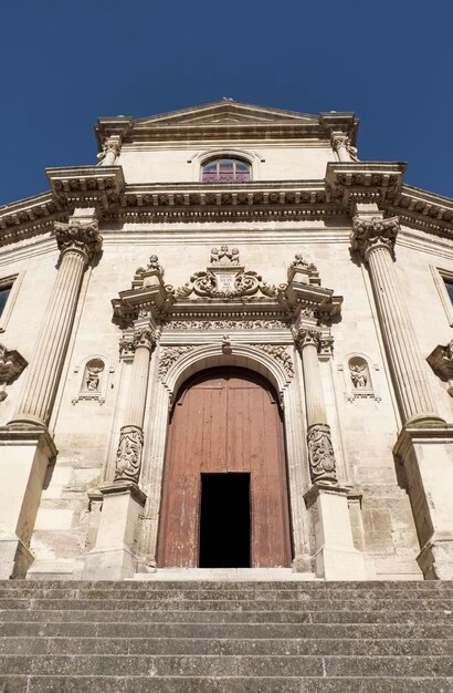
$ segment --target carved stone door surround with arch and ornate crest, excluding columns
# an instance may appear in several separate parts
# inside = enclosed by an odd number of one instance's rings
[[[339,314],[341,301],[320,286],[316,267],[301,254],[289,265],[286,281],[274,286],[245,268],[239,249],[227,245],[212,248],[207,268],[193,272],[178,288],[165,283],[164,269],[151,256],[146,268],[137,269],[131,288],[113,301],[115,319],[123,328],[120,358],[126,363],[134,358],[138,328],[148,325],[156,340],[148,394],[152,411],[145,414],[143,468],[137,475],[147,496],[139,544],[148,567],[156,565],[167,422],[173,399],[196,372],[224,365],[256,371],[278,393],[295,563],[310,569],[304,493],[313,478],[299,414],[304,386],[295,340],[304,325],[316,328],[318,355],[328,359],[330,323]]]

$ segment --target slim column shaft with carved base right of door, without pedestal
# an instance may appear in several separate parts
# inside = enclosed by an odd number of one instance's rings
[[[338,484],[318,361],[320,331],[316,328],[299,328],[296,340],[299,343],[304,371],[308,463],[312,482]]]

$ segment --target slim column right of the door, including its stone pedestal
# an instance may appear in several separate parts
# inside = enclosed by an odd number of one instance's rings
[[[308,464],[313,483],[305,494],[305,501],[314,525],[316,573],[326,580],[364,580],[364,557],[354,546],[348,489],[338,484],[327,424],[318,361],[320,330],[315,325],[299,327],[296,341],[304,372]]]

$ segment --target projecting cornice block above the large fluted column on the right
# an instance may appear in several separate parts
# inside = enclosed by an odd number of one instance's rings
[[[343,197],[352,214],[355,203],[383,204],[401,190],[405,164],[387,162],[329,162],[326,186],[334,197]]]

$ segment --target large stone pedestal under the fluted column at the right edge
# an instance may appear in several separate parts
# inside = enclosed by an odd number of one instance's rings
[[[405,472],[425,580],[453,579],[453,425],[404,427],[393,448]]]

